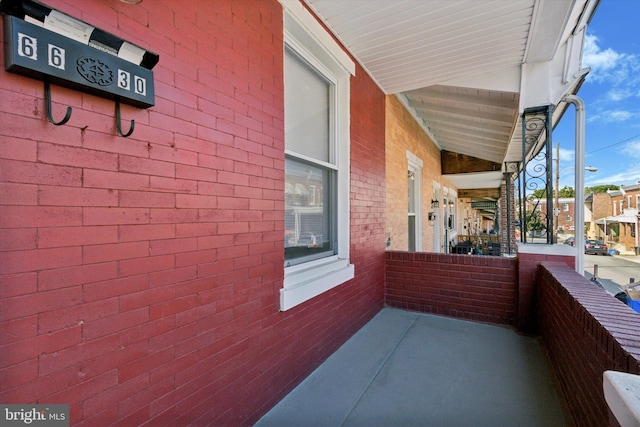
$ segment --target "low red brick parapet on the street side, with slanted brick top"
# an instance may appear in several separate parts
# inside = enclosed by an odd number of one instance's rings
[[[609,425],[602,375],[640,374],[639,314],[563,263],[538,274],[539,328],[573,425]]]

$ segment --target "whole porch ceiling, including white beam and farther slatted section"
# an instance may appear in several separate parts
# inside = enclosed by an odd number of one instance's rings
[[[579,87],[583,29],[599,2],[305,1],[441,150],[499,164],[521,159],[519,113]],[[495,173],[463,175],[447,177],[458,188],[496,183]]]

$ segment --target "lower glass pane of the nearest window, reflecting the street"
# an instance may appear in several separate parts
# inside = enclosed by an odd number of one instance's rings
[[[333,255],[334,172],[292,158],[285,161],[285,260]],[[294,264],[295,262],[290,262]]]

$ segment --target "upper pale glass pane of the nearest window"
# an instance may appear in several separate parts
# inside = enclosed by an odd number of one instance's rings
[[[285,144],[288,150],[329,162],[332,85],[289,49],[285,52]]]

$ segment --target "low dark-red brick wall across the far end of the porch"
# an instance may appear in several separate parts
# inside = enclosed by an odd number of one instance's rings
[[[515,258],[387,252],[392,307],[510,325],[516,307]]]

